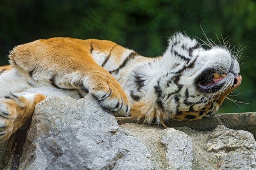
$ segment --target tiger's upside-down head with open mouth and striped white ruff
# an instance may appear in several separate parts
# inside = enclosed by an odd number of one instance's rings
[[[158,123],[208,117],[241,83],[236,55],[225,45],[204,49],[197,40],[181,33],[169,39],[162,57],[144,67],[150,67],[147,74],[151,78],[142,101],[154,103],[151,107]],[[152,109],[143,110],[146,121],[151,122]]]

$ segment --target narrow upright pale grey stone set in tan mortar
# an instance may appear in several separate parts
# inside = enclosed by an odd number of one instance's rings
[[[162,130],[161,142],[166,147],[169,168],[174,170],[191,170],[193,150],[191,138],[186,133],[174,128]]]

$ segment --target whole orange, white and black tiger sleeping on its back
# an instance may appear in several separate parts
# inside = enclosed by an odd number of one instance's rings
[[[0,142],[28,127],[50,96],[90,94],[115,116],[144,123],[196,120],[215,113],[241,84],[237,56],[224,45],[204,48],[177,32],[158,57],[108,40],[55,37],[18,45],[0,67]]]

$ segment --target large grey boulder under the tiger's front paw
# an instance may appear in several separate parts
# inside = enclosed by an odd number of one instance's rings
[[[151,170],[147,148],[87,96],[36,106],[20,170]]]

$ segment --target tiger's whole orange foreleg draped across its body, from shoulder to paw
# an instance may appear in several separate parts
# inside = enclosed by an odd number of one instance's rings
[[[91,40],[68,38],[37,40],[13,48],[9,61],[22,77],[39,86],[44,83],[84,91],[116,116],[128,116],[128,96],[119,82],[93,60],[91,44]]]

